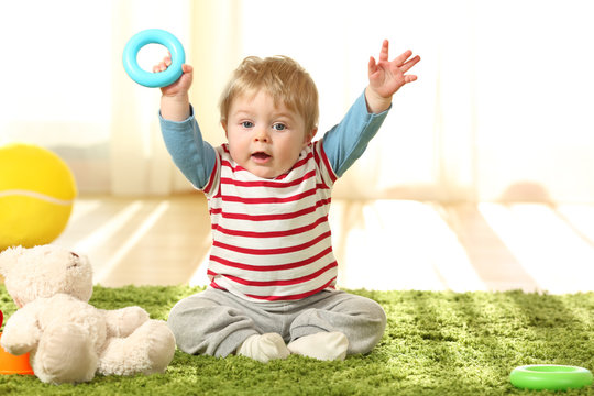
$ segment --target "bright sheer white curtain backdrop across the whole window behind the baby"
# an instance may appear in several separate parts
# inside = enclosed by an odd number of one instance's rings
[[[161,140],[158,89],[121,66],[128,38],[161,28],[195,66],[205,135],[246,55],[286,54],[320,91],[320,136],[366,84],[383,38],[411,48],[419,80],[395,96],[366,155],[337,185],[348,198],[594,202],[594,25],[587,1],[13,1],[1,7],[0,143],[47,146],[82,193],[190,187]],[[146,67],[163,48],[141,52]]]

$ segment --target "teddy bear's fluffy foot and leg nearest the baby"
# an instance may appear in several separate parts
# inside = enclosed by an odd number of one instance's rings
[[[153,374],[165,371],[175,353],[175,338],[161,320],[148,320],[127,338],[109,341],[99,363],[105,375]]]

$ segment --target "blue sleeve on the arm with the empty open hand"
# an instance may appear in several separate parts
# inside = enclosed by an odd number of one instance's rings
[[[341,177],[365,152],[367,144],[382,127],[388,110],[378,114],[370,113],[363,94],[342,121],[326,132],[322,141],[323,151],[337,176]]]

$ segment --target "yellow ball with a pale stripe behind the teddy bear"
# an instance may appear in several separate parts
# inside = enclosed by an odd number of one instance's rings
[[[0,147],[0,251],[54,241],[66,228],[76,183],[66,163],[30,144]]]

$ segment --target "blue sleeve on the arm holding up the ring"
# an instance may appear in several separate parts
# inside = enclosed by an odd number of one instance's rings
[[[165,146],[175,165],[196,188],[202,189],[217,163],[217,152],[202,140],[194,109],[190,109],[190,117],[185,121],[165,120],[161,113],[158,118]]]

